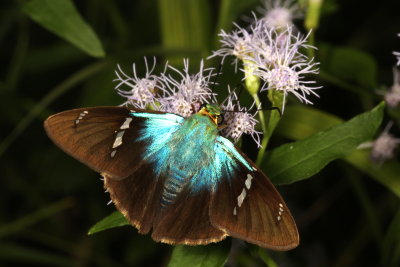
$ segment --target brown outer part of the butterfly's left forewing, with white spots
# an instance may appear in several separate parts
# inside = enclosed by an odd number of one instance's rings
[[[138,139],[144,119],[124,107],[81,108],[49,117],[45,129],[66,153],[93,170],[123,179],[141,164]]]

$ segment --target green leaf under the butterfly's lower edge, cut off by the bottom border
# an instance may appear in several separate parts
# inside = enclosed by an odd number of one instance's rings
[[[207,246],[178,245],[172,251],[168,267],[220,267],[228,259],[230,242]]]

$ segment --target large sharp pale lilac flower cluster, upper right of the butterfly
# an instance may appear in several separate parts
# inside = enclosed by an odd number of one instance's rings
[[[256,20],[249,30],[235,26],[232,33],[219,34],[222,48],[211,57],[233,55],[236,64],[244,62],[245,79],[255,75],[264,81],[261,90],[279,90],[284,97],[292,93],[301,102],[312,104],[307,97],[318,96],[315,90],[321,87],[304,80],[305,75],[318,73],[318,63],[301,52],[302,48],[314,48],[306,43],[308,35],[295,34],[292,26],[278,30],[264,19]]]

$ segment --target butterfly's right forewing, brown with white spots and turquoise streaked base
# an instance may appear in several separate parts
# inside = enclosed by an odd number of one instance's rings
[[[227,234],[261,247],[289,250],[299,243],[297,227],[282,197],[268,178],[223,137],[221,179],[210,206],[211,223]]]

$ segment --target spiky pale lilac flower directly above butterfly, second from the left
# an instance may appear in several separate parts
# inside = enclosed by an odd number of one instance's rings
[[[213,100],[214,94],[209,87],[213,69],[205,69],[203,61],[199,72],[195,75],[189,74],[188,60],[184,60],[183,72],[172,66],[168,68],[175,71],[179,79],[166,74],[162,74],[159,78],[160,89],[164,92],[162,97],[157,98],[160,104],[159,110],[188,117],[197,112],[201,104]]]

